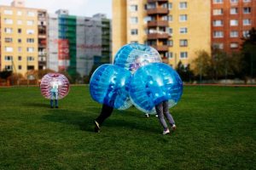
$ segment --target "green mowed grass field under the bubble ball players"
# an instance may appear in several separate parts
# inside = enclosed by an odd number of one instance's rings
[[[0,88],[0,169],[255,169],[256,88],[184,87],[177,131],[132,107],[93,132],[101,105],[71,87],[50,109],[38,87]]]

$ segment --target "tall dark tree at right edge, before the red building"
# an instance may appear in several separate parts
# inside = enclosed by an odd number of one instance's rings
[[[256,29],[252,28],[242,40],[243,76],[253,78],[256,76]]]

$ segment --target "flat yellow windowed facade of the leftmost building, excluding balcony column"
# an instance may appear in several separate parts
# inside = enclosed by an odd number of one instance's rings
[[[1,70],[11,65],[15,73],[25,75],[27,66],[38,70],[38,9],[16,8],[0,6],[1,14]],[[6,29],[11,29],[7,33]],[[12,42],[6,42],[5,38],[12,38]],[[27,38],[34,42],[28,43]],[[13,48],[11,52],[6,47]],[[30,53],[28,50],[32,50]],[[5,60],[5,56],[12,56],[12,61]],[[27,57],[32,57],[28,61]]]

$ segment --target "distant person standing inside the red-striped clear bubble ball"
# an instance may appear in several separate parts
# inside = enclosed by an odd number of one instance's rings
[[[58,89],[60,82],[54,77],[52,82],[50,82],[50,108],[54,108],[54,100],[55,100],[55,108],[59,108],[58,106]]]

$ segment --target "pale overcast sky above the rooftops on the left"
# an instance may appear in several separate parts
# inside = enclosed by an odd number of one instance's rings
[[[0,5],[10,5],[13,0],[0,0]],[[93,14],[107,14],[112,18],[112,0],[25,0],[26,7],[44,8],[49,13],[55,13],[59,8],[69,10],[69,14],[92,16]]]

